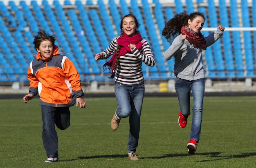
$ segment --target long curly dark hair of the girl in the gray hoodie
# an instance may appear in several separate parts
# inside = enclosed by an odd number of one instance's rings
[[[186,25],[188,26],[188,20],[193,21],[196,17],[201,16],[204,18],[204,14],[200,12],[194,12],[188,15],[187,13],[176,14],[172,19],[170,19],[164,26],[162,35],[169,42],[172,38],[175,38],[181,33],[181,28]]]

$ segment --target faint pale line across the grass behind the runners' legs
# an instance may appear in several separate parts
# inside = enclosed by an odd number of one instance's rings
[[[202,123],[232,123],[232,122],[256,122],[256,120],[223,120],[223,121],[202,121]],[[160,124],[177,124],[178,122],[142,122],[141,125],[160,125]],[[191,122],[188,122],[191,123]],[[120,123],[122,125],[128,125],[128,122]],[[106,126],[110,125],[110,123],[83,123],[83,124],[72,124],[71,126]],[[42,126],[42,124],[3,124],[1,127],[20,127],[20,126]]]

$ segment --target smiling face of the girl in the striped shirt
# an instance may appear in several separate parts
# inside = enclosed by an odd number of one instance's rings
[[[128,36],[135,35],[137,25],[135,24],[135,19],[133,17],[129,16],[124,18],[122,22],[122,26],[123,26],[122,29],[124,33],[126,33],[126,35]]]

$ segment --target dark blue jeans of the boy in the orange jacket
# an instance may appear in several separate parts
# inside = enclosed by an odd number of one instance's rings
[[[55,124],[61,130],[65,130],[70,126],[69,107],[50,107],[41,105],[41,110],[43,120],[43,145],[47,157],[57,157],[58,136],[55,130]]]

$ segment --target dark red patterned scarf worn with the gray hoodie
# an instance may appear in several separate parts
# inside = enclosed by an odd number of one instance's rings
[[[183,35],[186,34],[186,40],[188,40],[190,44],[206,50],[206,40],[201,32],[194,33],[189,27],[183,26],[181,28],[181,33]]]

